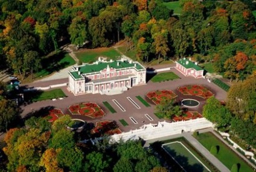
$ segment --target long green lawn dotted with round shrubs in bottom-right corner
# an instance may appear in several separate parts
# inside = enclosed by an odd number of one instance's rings
[[[233,164],[240,164],[239,171],[253,171],[252,168],[243,161],[240,156],[229,149],[225,143],[222,143],[217,137],[215,137],[211,132],[206,132],[199,134],[196,139],[209,151],[212,146],[219,146],[219,153],[217,153],[216,158],[220,160],[224,165],[226,165],[229,170],[231,170]]]

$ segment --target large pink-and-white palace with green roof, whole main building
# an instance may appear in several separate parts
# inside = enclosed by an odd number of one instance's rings
[[[146,84],[146,69],[137,61],[110,60],[74,66],[69,71],[68,90],[75,95],[86,93],[107,94],[126,91],[136,85]]]

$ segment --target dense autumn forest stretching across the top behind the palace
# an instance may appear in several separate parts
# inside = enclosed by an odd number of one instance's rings
[[[243,2],[181,0],[174,16],[161,0],[2,0],[1,66],[25,76],[66,43],[97,48],[125,39],[142,61],[194,56],[238,81],[255,70],[255,3]]]

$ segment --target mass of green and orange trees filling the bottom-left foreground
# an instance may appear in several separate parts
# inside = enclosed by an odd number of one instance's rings
[[[25,128],[10,129],[5,136],[4,153],[8,171],[167,171],[140,141],[109,144],[109,139],[93,146],[77,140],[66,129],[69,115],[51,125],[32,117]]]

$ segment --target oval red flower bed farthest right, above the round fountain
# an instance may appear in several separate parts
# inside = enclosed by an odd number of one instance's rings
[[[205,88],[202,85],[186,85],[179,87],[178,91],[186,96],[197,96],[203,99],[208,99],[211,96],[214,96],[214,94],[208,90],[208,88]]]

